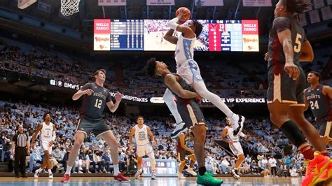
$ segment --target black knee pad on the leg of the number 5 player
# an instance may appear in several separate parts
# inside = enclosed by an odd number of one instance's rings
[[[298,126],[296,126],[296,124],[291,120],[284,122],[280,129],[282,130],[282,133],[289,138],[289,141],[291,141],[293,145],[296,145],[296,147],[299,147],[303,143],[307,142]]]

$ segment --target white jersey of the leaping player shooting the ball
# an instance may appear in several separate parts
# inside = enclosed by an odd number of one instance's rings
[[[177,48],[175,48],[175,62],[177,62],[177,67],[181,62],[193,59],[193,47],[195,45],[196,38],[184,38],[180,34],[177,39]]]

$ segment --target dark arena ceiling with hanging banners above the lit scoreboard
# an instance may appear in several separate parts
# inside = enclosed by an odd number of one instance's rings
[[[39,0],[23,10],[17,0],[1,0],[0,8],[30,15],[39,20],[69,27],[84,34],[92,34],[92,20],[111,19],[170,19],[179,7],[192,10],[193,19],[242,20],[258,19],[261,34],[267,34],[273,17],[274,7],[244,7],[242,0],[223,0],[224,6],[193,6],[193,0],[176,0],[175,6],[146,6],[146,0],[127,0],[127,6],[98,6],[97,0],[81,0],[80,12],[68,19],[60,16],[60,0]],[[272,0],[275,4],[277,1]]]

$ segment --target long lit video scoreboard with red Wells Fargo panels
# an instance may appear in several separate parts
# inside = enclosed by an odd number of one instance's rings
[[[169,20],[95,20],[94,50],[174,51],[163,38]],[[190,22],[190,21],[188,21]],[[186,24],[188,24],[186,22]],[[258,52],[258,20],[198,20],[195,51]],[[179,36],[174,31],[174,36]]]

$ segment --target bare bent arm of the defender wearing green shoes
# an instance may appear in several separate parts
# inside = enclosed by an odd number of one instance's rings
[[[169,87],[175,94],[177,94],[179,97],[183,99],[192,99],[195,97],[198,97],[199,95],[196,92],[191,92],[188,90],[184,90],[184,88],[181,87],[179,82],[177,82],[177,76],[174,76],[173,74],[168,74],[165,77],[165,84],[167,87]]]

